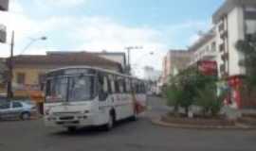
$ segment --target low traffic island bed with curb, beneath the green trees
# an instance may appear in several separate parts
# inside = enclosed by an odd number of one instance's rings
[[[224,116],[188,118],[184,116],[174,116],[166,114],[158,119],[153,119],[152,123],[157,126],[168,126],[174,128],[192,129],[231,129],[231,130],[254,130],[256,126],[247,125],[234,120],[227,120]]]

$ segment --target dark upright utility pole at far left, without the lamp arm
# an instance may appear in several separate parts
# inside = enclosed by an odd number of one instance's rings
[[[12,92],[12,70],[13,70],[13,49],[14,49],[14,31],[11,33],[11,42],[10,42],[10,57],[8,61],[9,66],[9,77],[8,77],[8,100],[10,101],[13,97]]]

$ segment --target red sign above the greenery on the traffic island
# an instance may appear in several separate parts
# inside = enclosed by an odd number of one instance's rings
[[[198,70],[204,75],[214,76],[217,74],[217,62],[211,60],[199,61]]]

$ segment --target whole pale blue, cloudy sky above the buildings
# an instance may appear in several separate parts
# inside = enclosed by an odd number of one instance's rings
[[[135,73],[144,66],[161,70],[170,49],[186,49],[199,31],[211,26],[211,15],[224,0],[9,0],[9,12],[0,24],[15,31],[14,54],[20,55],[31,39],[46,36],[23,54],[46,51],[125,52]],[[9,44],[0,44],[0,57],[9,56]],[[152,52],[154,53],[152,55]],[[138,74],[139,75],[139,74]]]

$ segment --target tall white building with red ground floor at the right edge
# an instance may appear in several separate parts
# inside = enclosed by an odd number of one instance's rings
[[[256,33],[256,1],[227,0],[213,14],[212,20],[216,29],[219,76],[229,83],[230,104],[235,108],[255,106],[253,100],[246,103],[239,91],[246,70],[240,65],[244,54],[236,48],[236,43]]]

